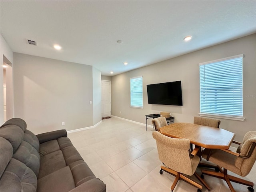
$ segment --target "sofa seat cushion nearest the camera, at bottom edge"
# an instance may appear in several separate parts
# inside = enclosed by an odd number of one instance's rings
[[[75,188],[73,175],[69,166],[66,166],[38,179],[37,192],[68,192],[73,188]]]

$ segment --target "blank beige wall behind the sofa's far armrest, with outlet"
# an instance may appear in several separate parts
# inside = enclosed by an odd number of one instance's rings
[[[94,125],[92,66],[14,53],[13,71],[14,115],[28,130],[39,134]]]

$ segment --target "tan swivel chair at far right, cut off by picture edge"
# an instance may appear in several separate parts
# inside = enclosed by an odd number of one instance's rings
[[[232,192],[235,190],[230,181],[244,184],[248,186],[250,192],[254,192],[253,182],[228,175],[228,170],[242,177],[249,174],[256,160],[256,131],[247,132],[242,143],[236,141],[233,143],[239,145],[236,152],[224,149],[205,149],[202,153],[203,158],[218,165],[220,172],[202,170],[202,174],[224,179]]]

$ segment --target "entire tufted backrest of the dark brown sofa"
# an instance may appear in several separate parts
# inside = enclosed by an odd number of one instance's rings
[[[38,138],[26,130],[24,120],[13,118],[0,127],[0,139],[1,191],[23,188],[36,192],[40,168]]]

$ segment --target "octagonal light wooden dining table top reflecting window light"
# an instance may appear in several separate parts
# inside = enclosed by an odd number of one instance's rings
[[[190,143],[208,149],[228,149],[235,134],[222,128],[192,123],[173,123],[160,128],[160,132],[172,138],[186,138]]]

